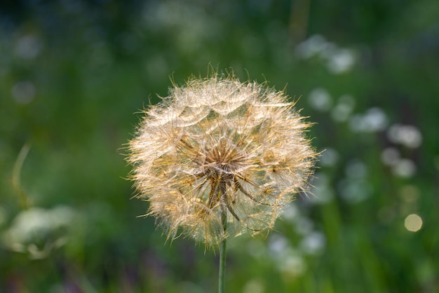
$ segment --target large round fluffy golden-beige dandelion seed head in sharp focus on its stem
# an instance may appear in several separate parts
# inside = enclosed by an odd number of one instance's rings
[[[283,92],[213,74],[144,111],[128,162],[137,198],[168,239],[221,244],[222,254],[228,237],[273,229],[316,158],[294,105]]]

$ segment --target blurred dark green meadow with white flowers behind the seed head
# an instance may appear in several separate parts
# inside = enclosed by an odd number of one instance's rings
[[[439,292],[437,0],[2,1],[0,292],[215,292],[123,158],[209,64],[285,88],[326,149],[314,196],[229,241],[227,292]]]

